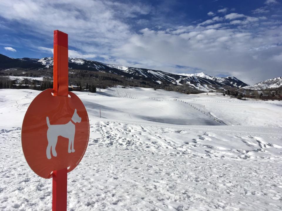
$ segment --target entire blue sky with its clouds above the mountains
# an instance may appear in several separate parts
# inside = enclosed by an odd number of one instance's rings
[[[69,56],[173,73],[282,76],[278,0],[0,2],[0,53],[52,56],[53,30]]]

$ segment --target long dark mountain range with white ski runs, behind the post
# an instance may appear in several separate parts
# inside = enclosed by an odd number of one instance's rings
[[[51,68],[53,66],[53,57],[44,57],[41,59],[21,58],[12,59],[4,55],[0,55],[0,69],[2,68],[26,68],[26,69],[42,69]],[[179,85],[189,87],[197,91],[224,91],[227,89],[237,89],[247,86],[244,82],[235,77],[218,78],[206,75],[204,73],[197,74],[173,74],[159,70],[127,67],[117,64],[104,64],[102,62],[69,58],[69,69],[87,70],[95,72],[105,72],[116,74],[127,79],[136,79],[142,81],[150,81],[158,86]]]

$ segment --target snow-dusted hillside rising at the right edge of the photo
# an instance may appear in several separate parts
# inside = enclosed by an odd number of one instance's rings
[[[244,86],[245,90],[266,90],[282,88],[282,77],[261,81],[252,86]]]

